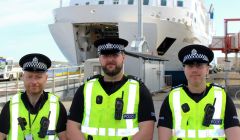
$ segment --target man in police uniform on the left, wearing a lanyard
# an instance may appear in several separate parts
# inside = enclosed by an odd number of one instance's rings
[[[0,140],[66,140],[67,113],[59,98],[44,91],[51,60],[38,53],[23,56],[25,91],[12,96],[0,115]]]

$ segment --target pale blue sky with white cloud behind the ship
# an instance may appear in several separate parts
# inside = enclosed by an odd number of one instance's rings
[[[67,61],[48,29],[53,23],[52,10],[59,7],[59,1],[0,0],[0,56],[18,61],[27,53],[39,52],[52,60]],[[206,5],[214,4],[216,35],[224,34],[224,18],[240,18],[239,0],[205,1]],[[239,22],[229,25],[230,31],[240,31]]]

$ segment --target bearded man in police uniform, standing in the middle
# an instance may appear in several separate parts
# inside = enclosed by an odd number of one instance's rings
[[[155,122],[149,90],[123,74],[120,38],[95,41],[104,75],[95,75],[77,90],[67,122],[71,140],[152,140]],[[134,64],[133,64],[134,65]]]

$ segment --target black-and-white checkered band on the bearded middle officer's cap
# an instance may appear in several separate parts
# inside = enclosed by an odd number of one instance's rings
[[[106,51],[106,50],[119,50],[119,51],[123,51],[124,50],[124,45],[107,43],[107,44],[103,44],[103,45],[99,45],[98,46],[98,53],[99,54],[101,53],[101,51]]]

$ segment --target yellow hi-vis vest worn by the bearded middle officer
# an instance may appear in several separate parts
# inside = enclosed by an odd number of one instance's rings
[[[115,120],[115,101],[122,98],[121,120]],[[96,103],[102,96],[101,104]],[[88,81],[84,87],[84,115],[81,131],[93,140],[128,140],[139,131],[138,127],[139,82],[129,79],[118,91],[107,95],[98,79]]]

